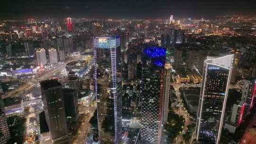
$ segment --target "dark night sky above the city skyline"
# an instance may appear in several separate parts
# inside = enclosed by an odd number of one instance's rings
[[[256,15],[256,0],[0,0],[5,18],[214,18]]]

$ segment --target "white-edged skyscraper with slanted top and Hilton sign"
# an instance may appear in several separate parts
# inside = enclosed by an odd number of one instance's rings
[[[204,61],[196,138],[219,144],[234,55]]]

